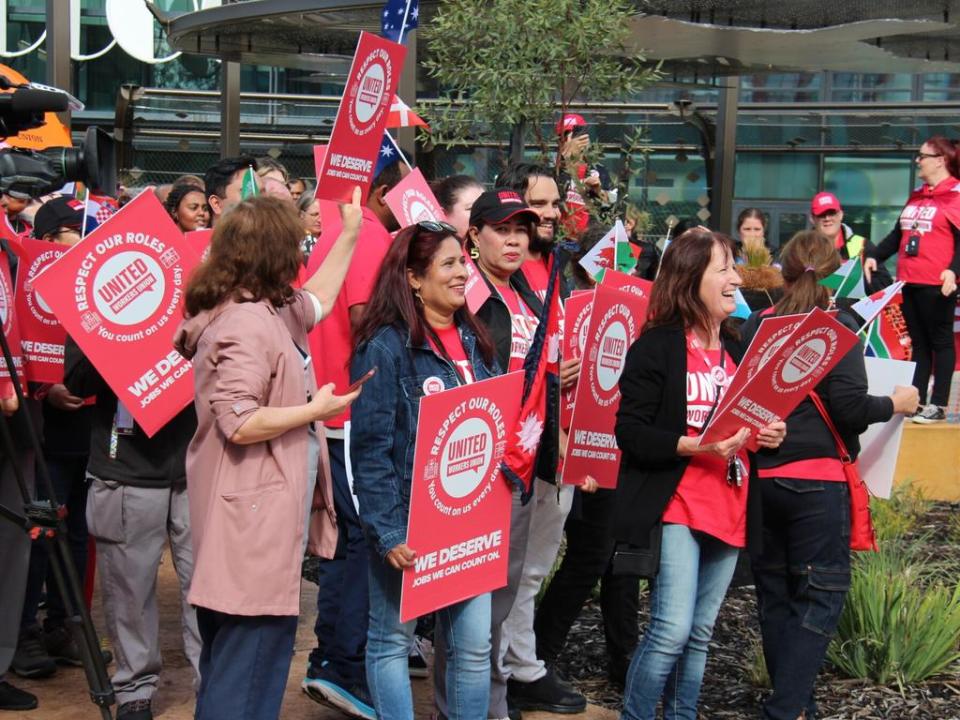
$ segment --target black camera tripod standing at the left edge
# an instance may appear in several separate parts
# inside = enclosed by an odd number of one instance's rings
[[[0,262],[6,262],[2,254],[0,254]],[[63,598],[63,606],[67,614],[67,627],[70,628],[82,655],[83,669],[87,676],[87,687],[90,690],[90,699],[93,704],[100,709],[100,714],[104,720],[111,720],[113,716],[110,707],[116,702],[113,686],[110,684],[110,678],[107,675],[107,668],[103,662],[103,655],[100,652],[100,641],[97,638],[97,631],[93,627],[93,621],[90,619],[90,611],[84,602],[83,590],[77,575],[77,569],[74,567],[73,558],[70,554],[70,546],[67,544],[67,529],[64,524],[64,515],[57,506],[57,496],[50,479],[50,472],[43,457],[40,439],[37,435],[33,420],[30,417],[30,413],[27,410],[26,398],[24,397],[23,388],[17,376],[13,356],[10,352],[10,345],[2,329],[0,329],[0,346],[2,346],[3,360],[6,364],[7,371],[10,373],[10,379],[13,381],[14,391],[20,403],[17,413],[23,416],[23,422],[30,438],[30,445],[36,457],[37,482],[41,484],[47,497],[50,498],[50,500],[37,501],[30,497],[23,470],[17,464],[16,448],[13,444],[13,435],[10,431],[9,420],[2,417],[0,418],[0,451],[2,451],[3,457],[0,459],[0,467],[2,467],[2,463],[9,462],[13,468],[13,474],[20,488],[20,495],[23,498],[25,511],[23,514],[20,514],[11,508],[0,505],[0,518],[12,522],[21,528],[30,536],[32,541],[42,540],[46,543],[50,568],[53,571],[54,579],[57,582],[57,587]]]

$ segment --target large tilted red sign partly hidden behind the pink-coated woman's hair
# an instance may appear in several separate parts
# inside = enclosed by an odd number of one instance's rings
[[[148,436],[193,400],[193,366],[173,334],[197,264],[156,195],[143,192],[34,280]]]

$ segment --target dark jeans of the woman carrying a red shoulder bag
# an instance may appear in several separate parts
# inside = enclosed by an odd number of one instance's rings
[[[843,482],[760,481],[763,548],[752,558],[770,720],[816,717],[817,673],[850,587],[850,498]]]

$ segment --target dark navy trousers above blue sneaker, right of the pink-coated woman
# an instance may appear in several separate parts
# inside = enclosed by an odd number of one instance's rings
[[[357,515],[344,459],[343,440],[328,439],[333,476],[333,504],[337,511],[337,552],[319,566],[317,647],[310,668],[336,675],[344,686],[363,685],[363,656],[367,643],[367,541]]]

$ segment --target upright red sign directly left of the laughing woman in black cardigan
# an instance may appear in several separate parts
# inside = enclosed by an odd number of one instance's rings
[[[617,486],[620,449],[613,429],[620,407],[620,373],[649,302],[642,293],[597,286],[563,460],[564,484],[580,485],[589,475],[600,487]]]

